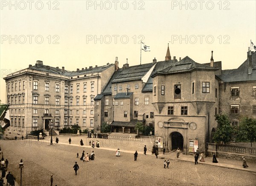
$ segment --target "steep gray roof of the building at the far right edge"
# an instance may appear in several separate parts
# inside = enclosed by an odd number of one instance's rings
[[[256,81],[256,52],[252,54],[252,73],[248,74],[249,59],[245,60],[243,64],[237,69],[222,70],[221,78],[224,82],[236,81]]]

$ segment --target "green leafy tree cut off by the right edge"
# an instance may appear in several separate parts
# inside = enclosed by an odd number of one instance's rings
[[[239,122],[238,127],[238,141],[250,141],[251,147],[253,142],[256,141],[256,119],[243,117]]]

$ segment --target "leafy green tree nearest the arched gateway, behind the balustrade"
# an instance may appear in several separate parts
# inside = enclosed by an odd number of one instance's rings
[[[230,125],[230,119],[227,114],[217,114],[215,115],[215,120],[218,122],[218,127],[212,139],[216,143],[223,142],[224,145],[226,145],[231,141],[235,132],[233,127]]]

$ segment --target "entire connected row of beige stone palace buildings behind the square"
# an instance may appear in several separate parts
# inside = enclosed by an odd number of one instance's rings
[[[164,61],[122,68],[115,64],[67,71],[37,61],[9,74],[6,102],[11,126],[5,137],[78,124],[99,132],[103,122],[111,132],[134,133],[135,125],[153,126],[159,148],[186,154],[206,151],[216,131],[215,115],[229,113],[230,125],[242,116],[256,118],[256,52],[237,69],[222,70],[221,61],[199,64],[179,60],[167,48]]]

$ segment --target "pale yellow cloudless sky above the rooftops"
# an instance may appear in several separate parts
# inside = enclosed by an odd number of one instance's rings
[[[202,2],[202,3],[201,3]],[[256,1],[0,1],[0,99],[6,102],[6,72],[37,60],[66,70],[126,62],[163,61],[188,55],[198,63],[222,61],[237,68],[256,44]],[[43,41],[41,41],[43,39]],[[213,39],[213,41],[212,41]],[[16,42],[16,43],[15,43]]]

